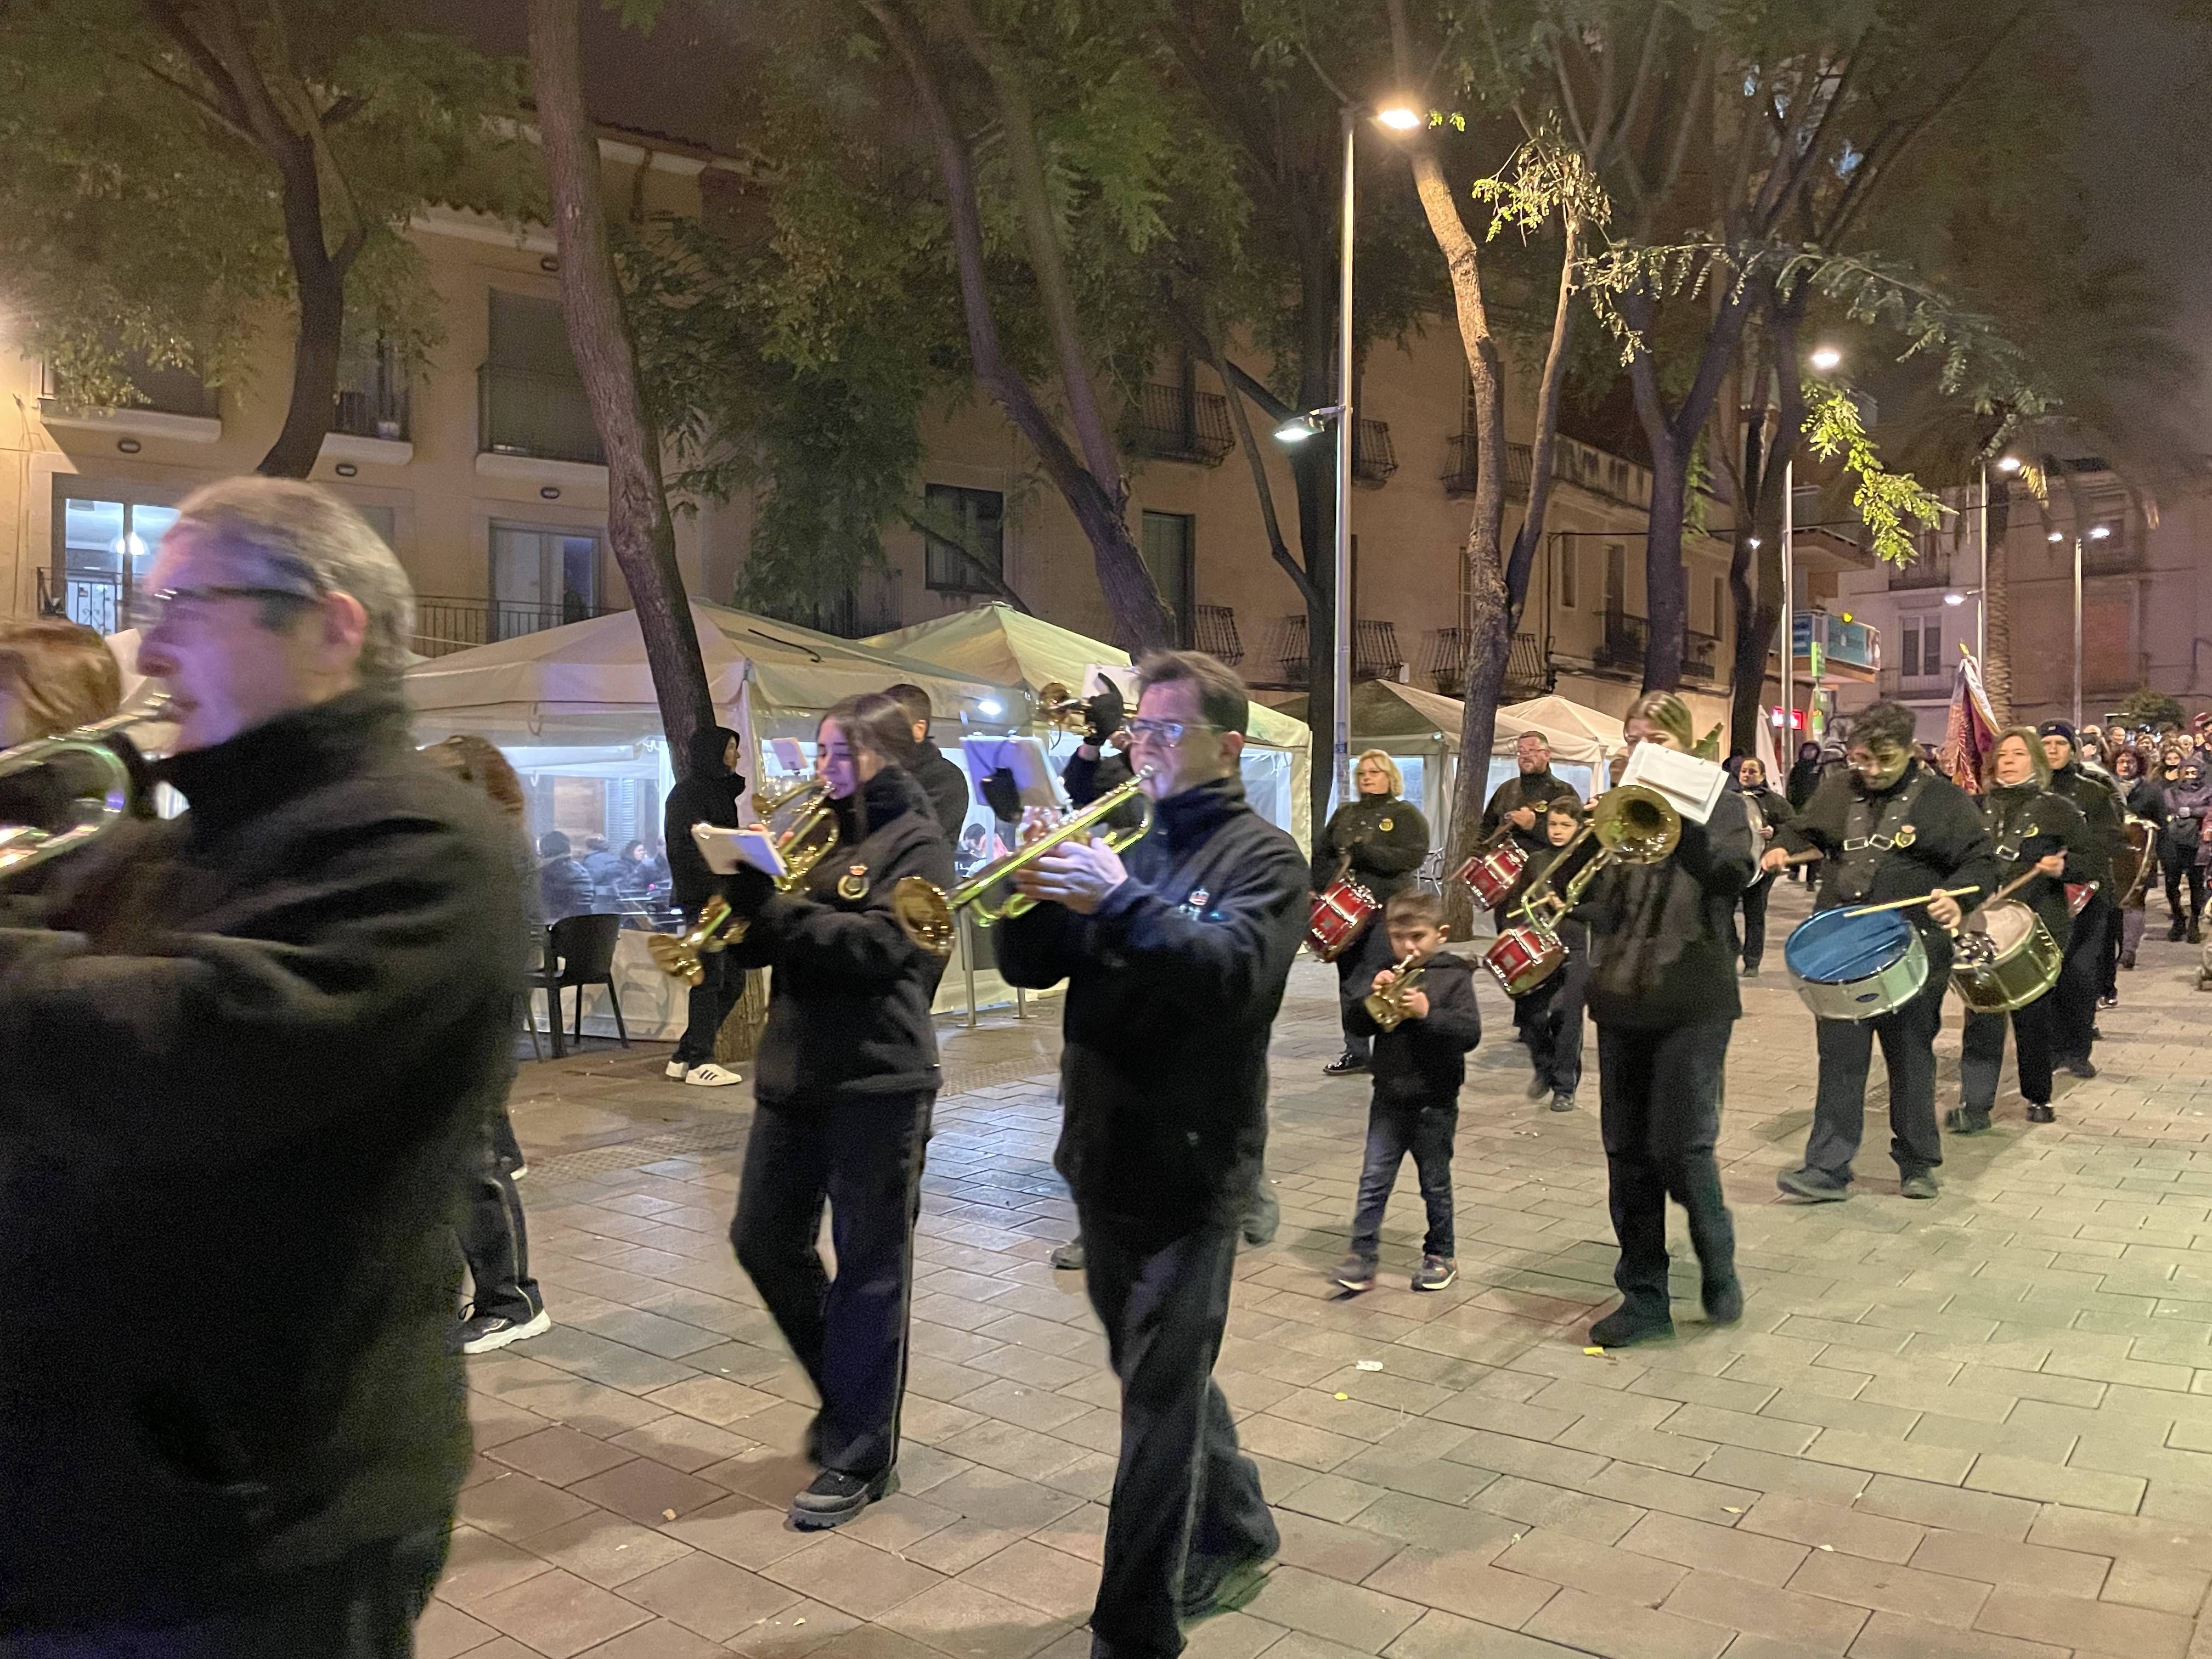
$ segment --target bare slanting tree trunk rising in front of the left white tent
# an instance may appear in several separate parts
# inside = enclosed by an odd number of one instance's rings
[[[690,765],[692,732],[714,726],[714,699],[677,571],[661,440],[637,385],[637,352],[606,243],[599,142],[584,113],[577,0],[531,0],[529,38],[568,347],[606,447],[606,535],[637,608],[670,763],[681,772]]]

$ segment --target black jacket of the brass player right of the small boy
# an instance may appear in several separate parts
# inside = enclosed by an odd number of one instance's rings
[[[1641,1029],[1736,1020],[1736,896],[1756,867],[1743,796],[1723,790],[1705,823],[1681,821],[1668,858],[1590,880],[1575,907],[1590,929],[1590,1018]]]

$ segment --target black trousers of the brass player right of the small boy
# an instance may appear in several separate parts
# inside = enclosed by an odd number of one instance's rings
[[[1708,1285],[1736,1274],[1736,1223],[1721,1199],[1712,1144],[1721,1133],[1721,1066],[1730,1020],[1694,1026],[1597,1026],[1597,1126],[1606,1141],[1606,1197],[1628,1305],[1668,1310],[1666,1201],[1690,1217],[1690,1245]]]

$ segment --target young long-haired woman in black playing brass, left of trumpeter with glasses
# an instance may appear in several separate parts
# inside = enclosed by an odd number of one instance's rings
[[[847,697],[818,741],[836,845],[790,891],[739,867],[723,951],[774,969],[730,1243],[821,1396],[821,1473],[792,1500],[807,1528],[898,1489],[914,1219],[940,1084],[929,1004],[945,960],[907,936],[891,894],[907,876],[953,885],[953,849],[902,765],[905,710]],[[836,1279],[816,1250],[825,1201]]]

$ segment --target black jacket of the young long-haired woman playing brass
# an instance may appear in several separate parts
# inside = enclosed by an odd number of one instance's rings
[[[774,969],[752,1086],[763,1106],[920,1093],[940,1082],[929,1002],[945,960],[891,920],[891,889],[900,876],[951,887],[953,849],[929,796],[896,765],[863,785],[858,810],[841,801],[836,814],[836,847],[803,891],[779,894],[750,867],[730,876],[730,907],[748,918],[730,960]]]

